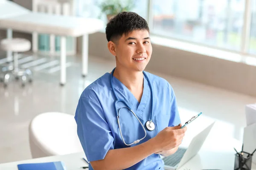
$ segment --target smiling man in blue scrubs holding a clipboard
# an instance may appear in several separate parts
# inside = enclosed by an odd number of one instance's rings
[[[81,94],[75,119],[90,170],[163,170],[160,154],[176,152],[186,127],[171,85],[145,72],[152,46],[148,24],[121,12],[107,24],[116,68]]]

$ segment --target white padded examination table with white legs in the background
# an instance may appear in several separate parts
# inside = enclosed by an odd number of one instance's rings
[[[82,76],[86,76],[88,73],[88,34],[95,33],[103,27],[104,23],[98,19],[34,12],[0,18],[0,28],[61,36],[61,85],[66,83],[66,36],[82,36]]]

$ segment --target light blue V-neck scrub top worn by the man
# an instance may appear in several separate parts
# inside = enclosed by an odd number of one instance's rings
[[[143,95],[140,103],[118,79],[113,77],[113,87],[119,99],[124,99],[141,123],[144,125],[147,136],[138,144],[153,138],[167,126],[176,126],[180,123],[174,91],[165,79],[145,72],[152,85],[154,103],[153,118],[155,130],[149,131],[145,123],[150,119],[151,92],[148,81],[144,76]],[[126,146],[121,138],[117,118],[114,111],[115,96],[110,85],[110,73],[104,74],[84,89],[76,108],[77,133],[88,161],[104,159],[108,150]],[[117,109],[124,107],[122,102],[117,103]],[[136,117],[127,109],[121,109],[120,127],[127,144],[144,137],[145,132]],[[121,163],[121,162],[120,162]],[[128,170],[159,170],[163,169],[163,161],[159,154],[152,154]],[[89,164],[89,170],[93,170]]]

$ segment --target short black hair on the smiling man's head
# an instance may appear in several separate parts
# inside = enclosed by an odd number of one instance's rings
[[[116,41],[132,31],[145,30],[149,32],[147,21],[135,12],[120,12],[106,26],[106,37],[108,41]]]

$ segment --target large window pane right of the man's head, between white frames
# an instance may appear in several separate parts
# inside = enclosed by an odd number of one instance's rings
[[[240,50],[245,0],[153,0],[154,34]]]

